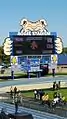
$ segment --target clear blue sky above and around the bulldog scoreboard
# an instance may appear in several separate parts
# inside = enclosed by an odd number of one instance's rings
[[[20,31],[20,20],[44,18],[67,47],[67,0],[0,0],[0,45],[9,32]]]

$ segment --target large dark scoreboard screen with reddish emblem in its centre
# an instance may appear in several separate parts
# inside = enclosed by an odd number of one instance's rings
[[[45,55],[53,54],[54,39],[47,36],[13,36],[13,55]]]

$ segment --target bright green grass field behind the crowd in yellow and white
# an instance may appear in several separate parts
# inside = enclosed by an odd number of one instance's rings
[[[55,90],[55,91],[53,91],[52,89],[43,89],[43,91],[44,91],[45,93],[48,93],[49,98],[50,98],[51,100],[53,99],[53,94],[54,94],[54,92],[58,92],[58,93],[61,93],[62,96],[65,96],[66,101],[67,101],[67,88],[59,89],[59,90]],[[23,94],[24,96],[26,96],[26,97],[31,97],[31,98],[34,97],[34,92],[33,92],[33,90],[31,90],[31,91],[23,91],[22,94]]]

